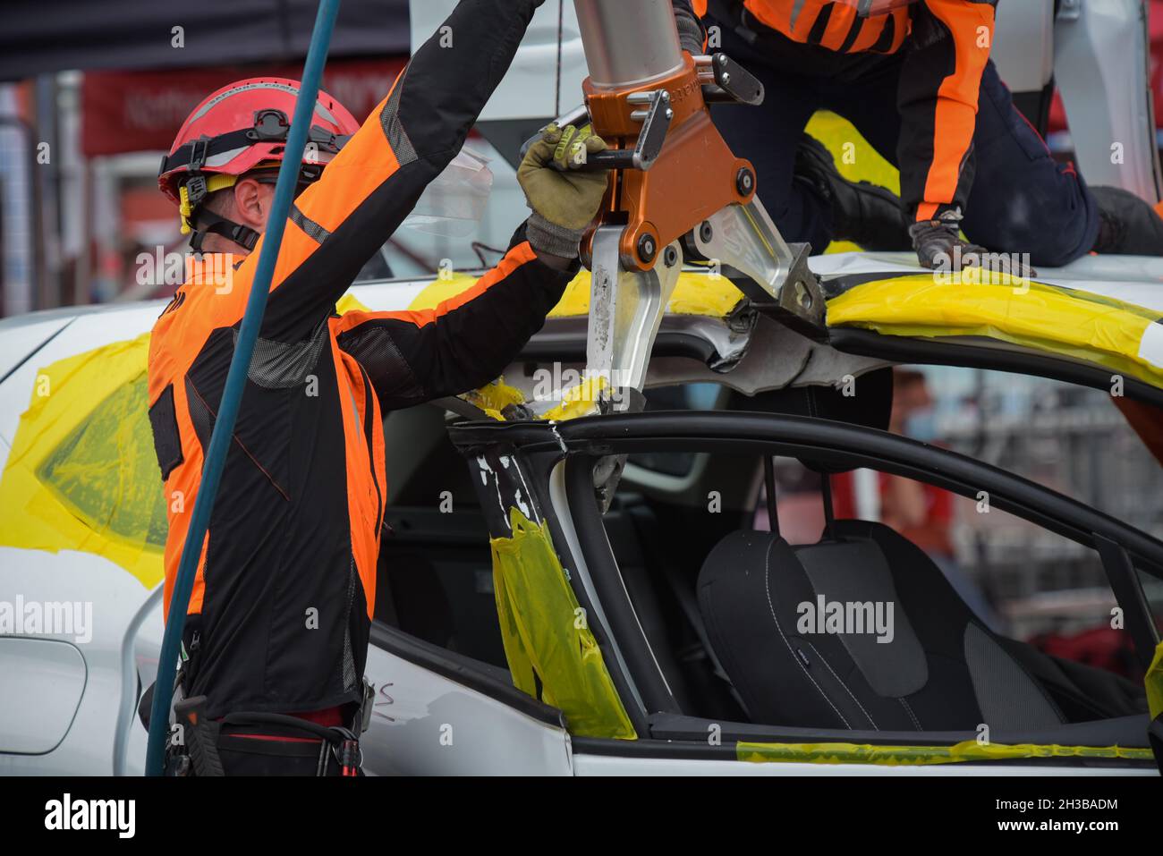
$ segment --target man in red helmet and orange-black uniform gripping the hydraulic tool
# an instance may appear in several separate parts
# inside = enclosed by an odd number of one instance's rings
[[[468,291],[416,312],[341,316],[335,302],[461,149],[541,2],[462,0],[444,26],[472,37],[429,40],[362,126],[319,93],[183,639],[183,704],[198,701],[212,734],[185,729],[173,771],[337,775],[358,763],[385,455],[406,454],[385,449],[384,413],[494,379],[542,326],[607,183],[568,166],[605,143],[550,129],[529,149],[520,180],[533,212]],[[150,340],[166,612],[298,95],[278,78],[215,92],[162,164],[200,250]]]

